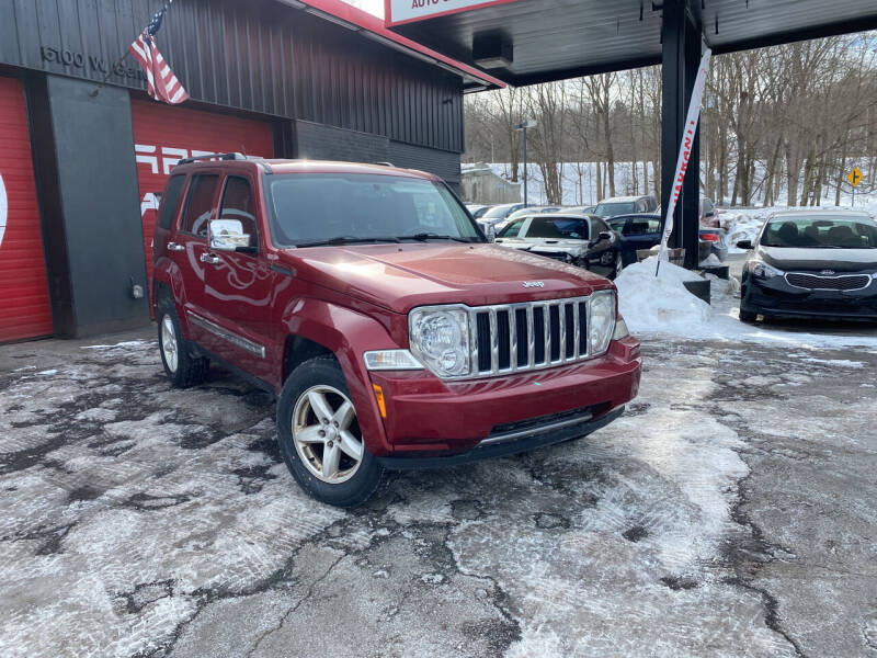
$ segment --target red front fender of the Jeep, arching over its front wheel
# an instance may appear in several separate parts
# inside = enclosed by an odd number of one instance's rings
[[[281,324],[288,334],[314,341],[335,355],[348,382],[369,452],[375,456],[388,454],[390,446],[372,390],[372,379],[363,361],[363,353],[368,350],[400,347],[390,338],[385,326],[361,311],[315,298],[300,298],[288,306]],[[283,364],[280,365],[277,381],[282,386]]]

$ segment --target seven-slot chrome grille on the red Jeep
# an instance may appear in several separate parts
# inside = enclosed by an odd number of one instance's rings
[[[586,359],[589,300],[569,297],[471,308],[472,374],[499,375]]]

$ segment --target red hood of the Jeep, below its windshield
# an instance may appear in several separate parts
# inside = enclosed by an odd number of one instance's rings
[[[612,287],[585,270],[496,245],[357,245],[281,253],[296,276],[396,313],[431,304],[571,297]],[[524,282],[538,283],[524,287]]]

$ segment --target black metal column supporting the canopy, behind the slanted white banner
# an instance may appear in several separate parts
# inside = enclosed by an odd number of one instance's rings
[[[661,206],[677,184],[673,180],[683,124],[701,64],[701,30],[685,0],[664,0],[661,26],[663,98],[661,110]],[[671,247],[685,248],[685,266],[697,266],[701,202],[701,127],[692,146],[682,195],[676,204]]]

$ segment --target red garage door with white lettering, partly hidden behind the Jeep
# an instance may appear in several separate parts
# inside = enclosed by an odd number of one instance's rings
[[[274,155],[274,138],[267,122],[172,107],[151,101],[132,100],[130,114],[140,183],[146,270],[151,291],[155,193],[164,189],[164,181],[178,160],[235,151],[270,158]]]

